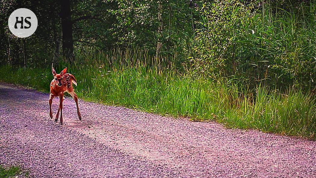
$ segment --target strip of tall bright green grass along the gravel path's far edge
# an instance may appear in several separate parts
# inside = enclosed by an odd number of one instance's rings
[[[246,87],[227,79],[194,78],[175,69],[156,69],[140,63],[131,66],[128,60],[124,64],[104,62],[118,56],[81,56],[82,64],[67,66],[78,81],[75,87],[78,97],[192,120],[217,120],[230,128],[252,128],[306,138],[316,136],[315,95],[302,92],[299,87],[280,94],[258,86],[257,99],[253,102],[252,93]],[[64,67],[60,64],[57,71]],[[0,80],[44,92],[49,92],[52,79],[50,68],[0,67]]]

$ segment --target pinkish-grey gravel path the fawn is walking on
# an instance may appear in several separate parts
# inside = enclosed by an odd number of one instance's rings
[[[68,97],[60,126],[48,97],[0,83],[1,165],[47,178],[316,177],[315,141],[82,100],[79,121]]]

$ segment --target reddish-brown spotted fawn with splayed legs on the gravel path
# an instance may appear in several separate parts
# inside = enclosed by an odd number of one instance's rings
[[[51,82],[50,92],[49,92],[49,116],[53,119],[52,114],[52,102],[54,97],[59,98],[59,107],[56,114],[55,122],[58,121],[59,111],[60,111],[60,125],[63,125],[63,101],[64,101],[64,92],[69,93],[75,100],[77,106],[77,114],[79,120],[81,120],[81,114],[78,106],[78,97],[74,92],[72,83],[77,86],[76,78],[67,72],[67,67],[61,71],[59,74],[56,73],[55,69],[52,67],[52,73],[54,79]]]

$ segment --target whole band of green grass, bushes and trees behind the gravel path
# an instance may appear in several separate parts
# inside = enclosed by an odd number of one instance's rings
[[[51,52],[39,37],[27,39],[27,58],[25,42],[10,38],[8,54],[3,40],[9,57],[2,60],[0,80],[49,92],[53,63],[56,71],[68,67],[74,74],[84,100],[316,138],[315,3],[115,2],[108,16],[75,24],[74,38],[84,39],[75,40],[71,60],[66,48],[63,57],[54,56],[58,35],[47,37]],[[111,25],[96,22],[113,18]],[[45,36],[40,30],[37,35]]]

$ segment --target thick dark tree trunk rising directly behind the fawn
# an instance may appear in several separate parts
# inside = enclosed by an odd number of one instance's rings
[[[74,62],[74,44],[72,39],[72,21],[70,11],[70,0],[59,0],[60,18],[63,34],[63,57],[68,59],[70,63]]]

